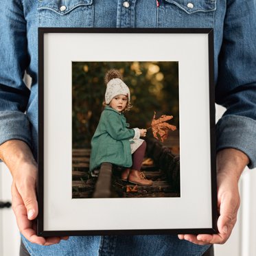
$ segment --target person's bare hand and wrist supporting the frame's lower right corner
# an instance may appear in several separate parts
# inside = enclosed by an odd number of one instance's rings
[[[194,244],[224,244],[229,239],[240,207],[238,181],[248,165],[249,159],[240,150],[227,148],[217,154],[217,186],[218,186],[218,233],[213,235],[178,235],[181,240]]]

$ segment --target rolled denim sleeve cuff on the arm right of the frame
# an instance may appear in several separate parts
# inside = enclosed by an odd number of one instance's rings
[[[248,167],[251,169],[256,167],[256,121],[254,119],[226,115],[216,124],[216,137],[217,151],[224,148],[240,150],[250,159]]]

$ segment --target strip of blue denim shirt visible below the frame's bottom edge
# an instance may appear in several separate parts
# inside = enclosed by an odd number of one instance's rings
[[[209,248],[179,240],[177,235],[80,236],[52,246],[21,238],[31,256],[201,256]]]

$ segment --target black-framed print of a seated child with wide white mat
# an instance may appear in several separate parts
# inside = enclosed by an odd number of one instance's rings
[[[216,233],[213,30],[38,36],[38,235]]]

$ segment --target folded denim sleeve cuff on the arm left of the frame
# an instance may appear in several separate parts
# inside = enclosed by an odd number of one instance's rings
[[[0,112],[0,145],[5,141],[19,139],[32,148],[30,121],[19,111]]]

